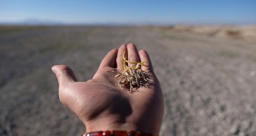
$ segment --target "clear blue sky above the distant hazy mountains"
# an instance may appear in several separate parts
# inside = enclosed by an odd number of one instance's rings
[[[256,24],[256,0],[0,0],[0,22]]]

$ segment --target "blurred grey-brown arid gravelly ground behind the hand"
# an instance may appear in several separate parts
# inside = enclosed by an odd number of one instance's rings
[[[254,33],[254,34],[253,34]],[[165,100],[161,136],[256,136],[256,27],[1,26],[0,136],[80,136],[51,67],[92,78],[112,48],[148,51]]]

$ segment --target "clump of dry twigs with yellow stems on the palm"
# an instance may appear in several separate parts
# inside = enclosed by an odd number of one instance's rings
[[[148,88],[146,82],[153,81],[153,80],[147,78],[146,75],[145,75],[145,73],[149,72],[149,70],[143,71],[141,69],[143,67],[143,64],[145,63],[145,61],[143,61],[143,62],[128,61],[125,57],[125,51],[124,51],[124,53],[123,53],[124,71],[122,73],[121,72],[116,72],[116,71],[108,71],[108,72],[112,72],[112,73],[117,74],[117,75],[115,75],[115,78],[119,78],[119,80],[116,82],[116,84],[121,89],[122,89],[122,87],[130,87],[130,93],[137,92],[137,90],[135,90],[134,88],[137,88],[137,87],[146,87],[146,88]],[[128,63],[136,64],[136,65],[133,66],[133,67],[128,67]]]

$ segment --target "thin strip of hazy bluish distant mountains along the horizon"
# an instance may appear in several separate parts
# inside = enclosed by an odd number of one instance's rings
[[[2,20],[0,25],[256,25],[256,22],[208,22],[208,21],[57,21],[51,19],[27,18],[21,20]]]

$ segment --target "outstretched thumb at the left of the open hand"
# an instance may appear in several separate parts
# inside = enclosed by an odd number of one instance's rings
[[[76,76],[72,69],[65,65],[55,65],[52,67],[52,72],[58,79],[59,86],[65,86],[72,82],[77,82]]]

